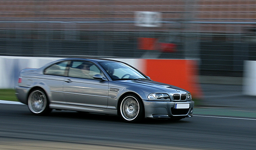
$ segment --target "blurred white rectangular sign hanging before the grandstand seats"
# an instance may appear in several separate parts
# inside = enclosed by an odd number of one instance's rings
[[[161,26],[160,12],[135,12],[135,26],[159,27]]]

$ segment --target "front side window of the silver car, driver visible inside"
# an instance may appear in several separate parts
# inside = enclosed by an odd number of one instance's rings
[[[73,61],[68,72],[70,77],[86,79],[93,79],[93,76],[97,74],[103,76],[103,73],[95,64],[87,61]]]

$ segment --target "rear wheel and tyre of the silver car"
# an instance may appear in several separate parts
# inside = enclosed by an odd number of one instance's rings
[[[47,95],[42,89],[34,89],[29,94],[28,98],[29,110],[35,115],[48,115],[51,112],[49,109],[49,101]]]

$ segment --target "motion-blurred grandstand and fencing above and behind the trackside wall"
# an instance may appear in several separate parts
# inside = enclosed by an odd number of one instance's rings
[[[0,0],[2,56],[195,59],[242,77],[255,48],[255,0]]]

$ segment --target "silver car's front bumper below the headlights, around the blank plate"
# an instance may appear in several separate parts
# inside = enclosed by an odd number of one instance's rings
[[[143,100],[145,118],[172,118],[174,116],[192,117],[194,101],[148,101]],[[177,109],[176,104],[189,104],[189,108]]]

